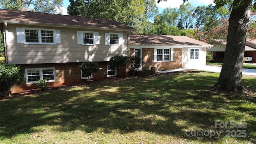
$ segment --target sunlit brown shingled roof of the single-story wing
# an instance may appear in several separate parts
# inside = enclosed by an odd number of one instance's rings
[[[130,34],[131,45],[212,46],[187,36]]]

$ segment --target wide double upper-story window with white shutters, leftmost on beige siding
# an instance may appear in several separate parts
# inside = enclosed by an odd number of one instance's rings
[[[60,44],[60,30],[16,28],[17,42],[24,44]]]

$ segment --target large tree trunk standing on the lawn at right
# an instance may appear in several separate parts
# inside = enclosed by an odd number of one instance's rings
[[[212,90],[226,92],[244,92],[242,65],[246,33],[250,17],[252,0],[234,0],[229,18],[228,37],[222,70],[218,82]]]

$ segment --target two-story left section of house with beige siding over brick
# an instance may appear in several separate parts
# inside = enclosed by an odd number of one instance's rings
[[[36,88],[40,78],[48,78],[49,86],[82,82],[82,62],[98,62],[94,79],[115,76],[108,61],[128,56],[128,37],[135,31],[115,20],[3,9],[0,28],[6,62],[26,71],[26,81],[13,86],[13,93]]]

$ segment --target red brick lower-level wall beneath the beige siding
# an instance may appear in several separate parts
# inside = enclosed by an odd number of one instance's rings
[[[56,72],[56,82],[49,82],[48,86],[62,86],[63,84],[72,84],[76,82],[85,82],[87,79],[81,80],[81,63],[56,63],[56,64],[21,64],[22,68],[50,68],[54,67]],[[100,71],[93,74],[92,80],[100,80],[107,78],[107,65],[108,62],[98,62]],[[35,84],[26,84],[26,80],[22,84],[14,85],[12,93],[22,92],[38,88]]]

